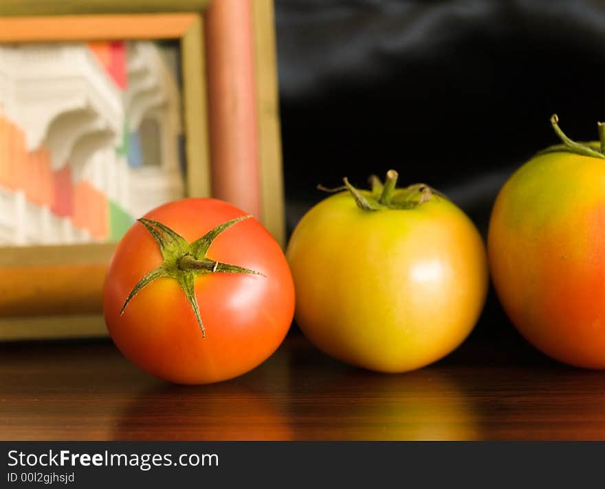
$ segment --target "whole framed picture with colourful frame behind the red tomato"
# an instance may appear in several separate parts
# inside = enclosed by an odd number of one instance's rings
[[[1,340],[104,336],[115,242],[163,202],[283,243],[274,42],[271,0],[3,2]]]

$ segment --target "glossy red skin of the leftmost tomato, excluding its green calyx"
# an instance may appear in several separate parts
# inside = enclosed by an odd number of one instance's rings
[[[145,217],[160,221],[187,241],[195,241],[225,221],[245,215],[217,199],[182,199]],[[120,309],[144,274],[162,264],[162,255],[140,223],[115,250],[104,284],[104,316],[122,354],[158,378],[181,384],[226,380],[253,369],[285,337],[294,315],[294,284],[287,261],[273,237],[254,218],[225,230],[208,257],[265,276],[206,274],[195,294],[206,338],[175,279],[147,285]]]

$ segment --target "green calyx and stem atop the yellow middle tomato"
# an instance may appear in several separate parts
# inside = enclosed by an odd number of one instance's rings
[[[369,181],[372,190],[370,192],[355,188],[347,177],[342,179],[344,186],[325,188],[320,185],[318,188],[327,192],[347,190],[355,199],[355,204],[363,210],[413,209],[433,198],[444,197],[443,194],[426,184],[413,184],[406,188],[397,188],[398,177],[397,171],[389,170],[386,172],[386,179],[383,183],[376,175],[371,175]]]

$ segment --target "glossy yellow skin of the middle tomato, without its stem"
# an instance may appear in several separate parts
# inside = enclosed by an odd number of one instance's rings
[[[303,217],[286,256],[305,336],[375,371],[409,371],[450,353],[485,301],[481,236],[443,197],[368,211],[348,193],[333,195]]]

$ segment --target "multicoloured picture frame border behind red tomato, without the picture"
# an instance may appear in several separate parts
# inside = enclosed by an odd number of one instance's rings
[[[242,23],[251,25],[248,32]],[[0,6],[0,44],[179,39],[187,195],[226,199],[251,210],[283,246],[273,23],[272,0],[8,0]],[[238,42],[234,49],[250,47],[243,67],[232,65],[227,51]],[[230,97],[248,103],[239,103],[239,113],[233,113]],[[245,136],[243,144],[233,133]],[[255,164],[242,161],[245,153],[255,155]],[[246,192],[242,171],[257,175]],[[0,248],[0,340],[105,336],[102,282],[114,248],[114,243]]]

